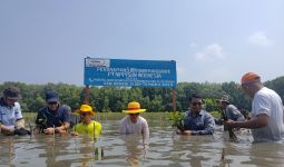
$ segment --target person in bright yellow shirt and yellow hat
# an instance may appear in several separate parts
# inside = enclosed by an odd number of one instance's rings
[[[89,135],[98,138],[101,134],[101,125],[92,120],[92,117],[95,116],[92,108],[89,105],[81,105],[77,110],[77,114],[80,116],[80,122],[74,126],[71,135]]]

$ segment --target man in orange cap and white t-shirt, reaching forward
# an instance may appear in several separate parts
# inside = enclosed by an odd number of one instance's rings
[[[283,138],[283,104],[280,96],[263,86],[261,77],[247,72],[242,77],[242,89],[253,98],[252,120],[225,121],[228,128],[252,129],[254,141],[277,141]]]

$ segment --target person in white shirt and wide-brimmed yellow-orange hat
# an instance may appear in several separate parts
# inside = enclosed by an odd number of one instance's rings
[[[128,104],[127,110],[123,110],[127,116],[119,122],[119,134],[143,134],[144,138],[149,137],[149,128],[147,120],[139,116],[146,109],[140,108],[140,104],[131,101]]]

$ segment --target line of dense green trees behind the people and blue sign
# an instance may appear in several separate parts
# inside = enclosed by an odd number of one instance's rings
[[[264,82],[275,90],[284,99],[284,77]],[[16,86],[21,90],[20,104],[23,111],[38,111],[46,105],[45,92],[56,90],[60,102],[69,105],[72,110],[85,101],[85,87],[67,84],[27,85],[23,82],[0,84],[0,90],[8,86]],[[223,84],[214,82],[179,82],[176,87],[176,109],[188,109],[188,98],[192,94],[199,94],[205,99],[208,111],[219,110],[217,99],[228,98],[239,109],[251,110],[251,98],[239,88],[239,85],[231,81]],[[90,87],[89,104],[96,111],[120,112],[127,108],[129,101],[139,101],[147,111],[173,111],[173,88],[154,87]]]

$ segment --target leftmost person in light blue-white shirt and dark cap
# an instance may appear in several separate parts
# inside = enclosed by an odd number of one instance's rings
[[[0,98],[0,131],[4,135],[30,135],[25,129],[25,120],[21,114],[21,107],[18,102],[20,90],[17,87],[8,87],[3,90],[3,97]]]

